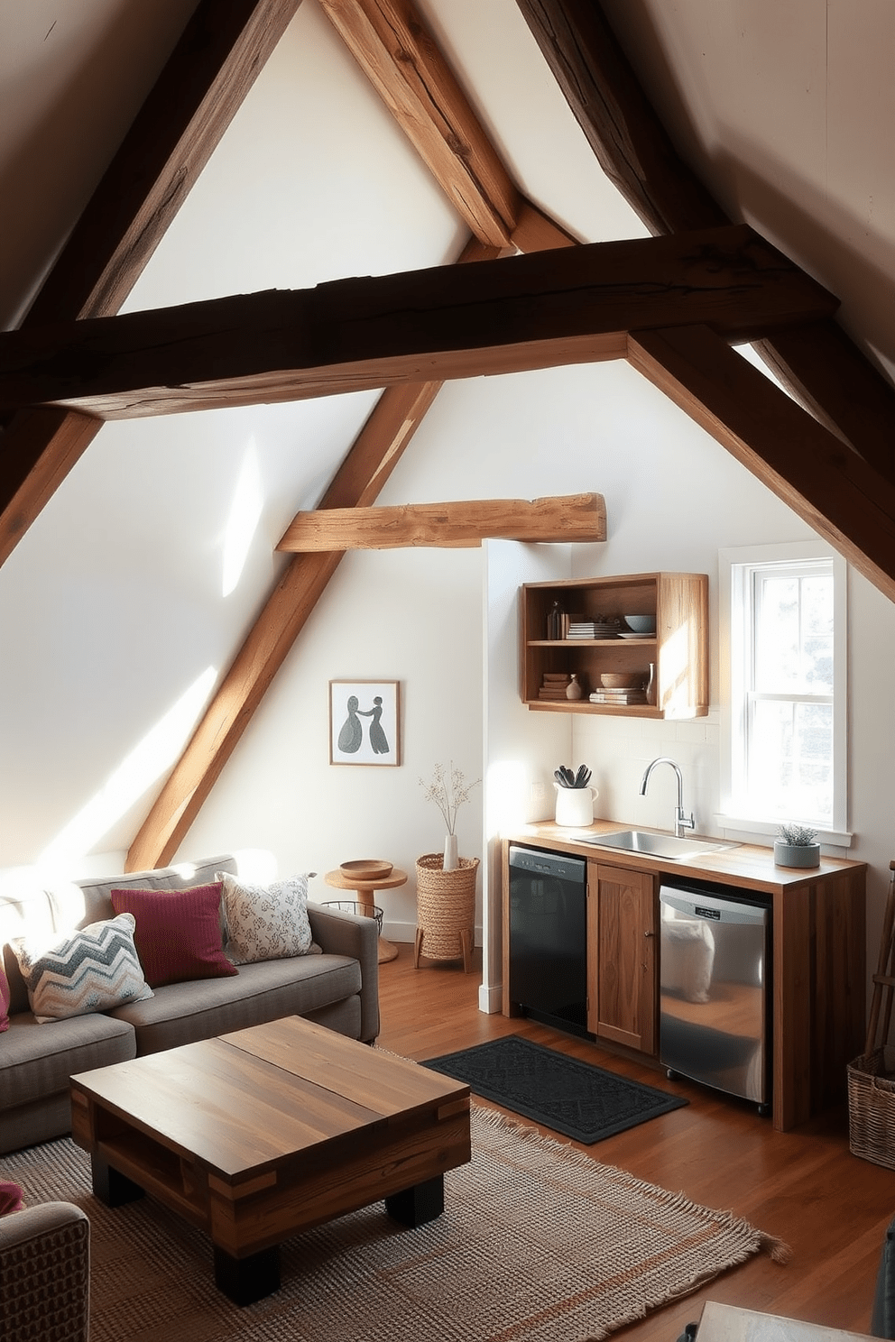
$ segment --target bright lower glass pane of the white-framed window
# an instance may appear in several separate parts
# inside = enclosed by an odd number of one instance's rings
[[[749,793],[778,819],[829,824],[833,815],[833,709],[755,701],[749,729]]]

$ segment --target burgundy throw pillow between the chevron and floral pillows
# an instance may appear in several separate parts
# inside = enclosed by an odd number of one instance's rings
[[[133,914],[134,945],[150,988],[236,974],[224,954],[221,884],[188,890],[113,890],[117,914]]]

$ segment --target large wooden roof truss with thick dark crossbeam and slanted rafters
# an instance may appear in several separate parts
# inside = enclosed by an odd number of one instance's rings
[[[471,302],[464,310],[458,301],[463,293],[468,298],[470,286],[458,285],[462,272],[450,275],[454,303],[444,291],[439,298],[439,270],[325,285],[311,295],[223,299],[224,307],[235,305],[229,318],[242,313],[242,325],[224,322],[221,336],[219,305],[217,340],[213,329],[203,327],[215,305],[189,305],[178,310],[181,322],[191,314],[197,319],[185,362],[172,346],[153,365],[140,345],[152,323],[164,326],[170,314],[103,321],[119,310],[299,3],[201,0],[21,333],[1,338],[5,405],[13,413],[0,443],[0,562],[105,416],[385,385],[319,505],[366,509],[441,378],[627,357],[895,596],[895,392],[835,322],[835,301],[749,229],[731,225],[683,164],[596,0],[517,3],[602,168],[652,240],[577,246],[527,201],[409,0],[321,0],[470,227],[472,243],[462,259],[483,260],[471,287],[488,286],[479,321],[472,319]],[[721,280],[706,283],[699,256],[704,262],[706,246],[719,244],[729,268]],[[624,294],[611,291],[605,274],[602,289],[598,275],[594,280],[602,264],[597,258],[611,256],[607,248],[616,246],[616,259],[643,267],[640,274],[625,272]],[[550,255],[488,267],[488,260],[517,250]],[[749,282],[731,282],[743,279],[746,262]],[[664,293],[649,290],[657,272]],[[694,276],[696,285],[690,283]],[[415,302],[408,340],[399,299],[411,278],[415,298],[423,285],[428,299],[419,323]],[[526,317],[533,297],[538,311]],[[345,301],[358,298],[366,306],[352,321]],[[290,358],[271,358],[290,305]],[[252,322],[255,331],[259,322],[264,329],[275,310],[278,330],[276,322],[266,327],[270,366],[259,368],[259,348],[250,349],[246,336]],[[75,321],[79,329],[42,330]],[[326,322],[329,336],[338,336],[337,353],[330,349],[321,358]],[[390,340],[385,354],[376,333]],[[730,349],[738,340],[758,345],[809,413]],[[83,362],[75,368],[85,352],[89,376]],[[129,870],[164,864],[174,855],[342,553],[290,557],[134,840]]]

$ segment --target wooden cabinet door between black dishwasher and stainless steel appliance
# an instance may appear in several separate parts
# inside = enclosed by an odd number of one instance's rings
[[[588,1029],[656,1051],[656,891],[645,871],[588,863]]]

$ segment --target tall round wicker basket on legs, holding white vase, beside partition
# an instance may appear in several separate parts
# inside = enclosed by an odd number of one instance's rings
[[[475,879],[478,858],[460,858],[459,867],[443,871],[440,852],[416,859],[416,942],[413,965],[429,960],[460,960],[468,974],[472,966],[475,929]]]

